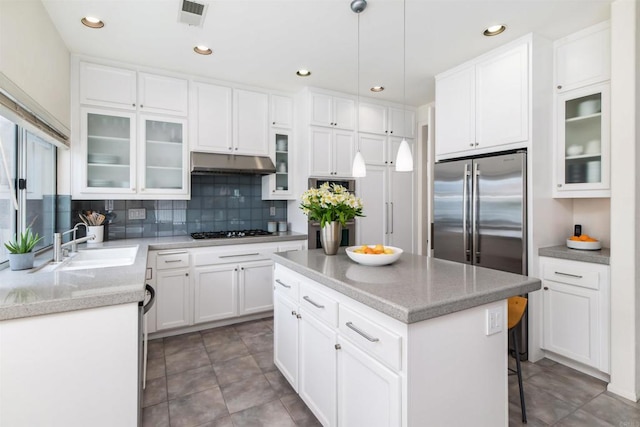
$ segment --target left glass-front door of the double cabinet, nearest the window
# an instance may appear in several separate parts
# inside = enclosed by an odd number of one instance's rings
[[[81,121],[82,190],[135,192],[135,114],[85,108]]]

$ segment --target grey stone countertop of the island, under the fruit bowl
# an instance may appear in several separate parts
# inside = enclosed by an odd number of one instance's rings
[[[343,250],[273,254],[276,263],[405,323],[414,323],[540,289],[540,280],[403,253],[391,265],[367,267]]]

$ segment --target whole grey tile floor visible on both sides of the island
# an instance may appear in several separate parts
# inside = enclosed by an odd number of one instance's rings
[[[603,381],[548,359],[523,363],[523,378],[530,427],[640,427],[640,403]],[[150,427],[320,425],[273,364],[273,319],[150,341],[143,406]],[[519,425],[512,375],[509,426]]]

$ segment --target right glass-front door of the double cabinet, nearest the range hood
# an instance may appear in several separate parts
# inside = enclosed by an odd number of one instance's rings
[[[140,117],[139,185],[145,194],[182,194],[187,188],[186,120]]]

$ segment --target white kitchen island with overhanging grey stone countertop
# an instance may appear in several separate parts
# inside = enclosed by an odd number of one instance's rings
[[[538,279],[406,253],[273,259],[274,361],[323,425],[508,424],[506,299]]]

